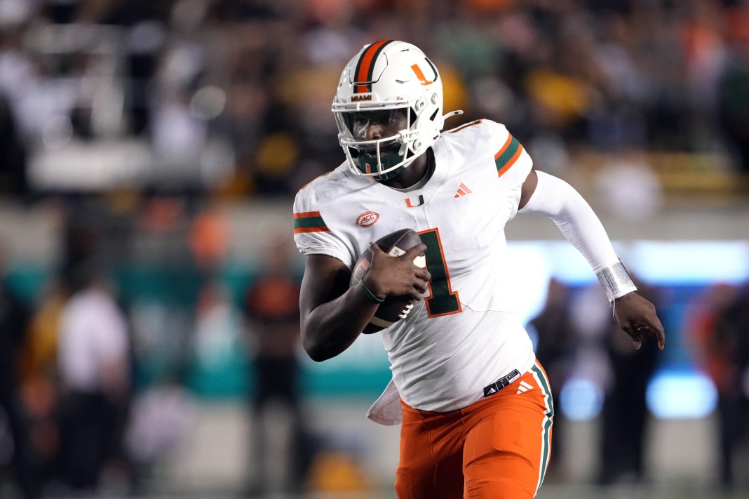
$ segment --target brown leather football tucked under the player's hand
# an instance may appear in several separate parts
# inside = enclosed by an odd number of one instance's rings
[[[421,238],[419,234],[413,229],[400,229],[395,232],[391,232],[388,235],[383,236],[375,241],[377,246],[386,252],[390,256],[400,256],[413,248],[417,244],[420,244]],[[372,250],[367,248],[357,264],[354,265],[354,270],[351,272],[351,286],[359,284],[369,270],[369,264],[372,263]],[[426,266],[426,258],[424,253],[417,256],[413,263],[419,267]],[[410,296],[389,296],[385,298],[385,301],[380,303],[380,306],[375,312],[375,316],[372,317],[372,321],[362,331],[365,334],[377,333],[377,331],[383,330],[390,324],[394,324],[400,321],[401,318],[406,318],[410,309],[413,308],[413,300]]]

